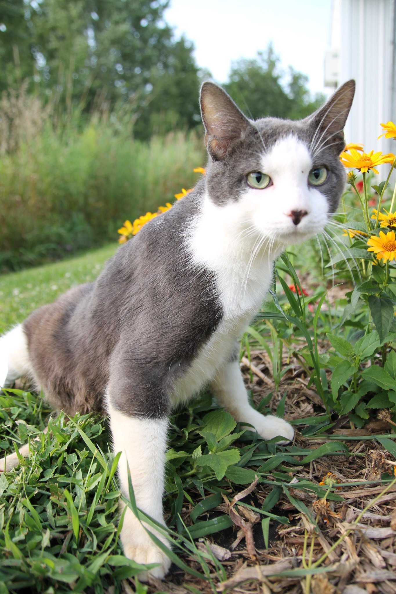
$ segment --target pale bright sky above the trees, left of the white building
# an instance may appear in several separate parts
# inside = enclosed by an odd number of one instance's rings
[[[308,75],[312,93],[324,87],[331,0],[170,0],[166,22],[195,45],[200,68],[225,83],[232,61],[254,58],[273,42],[281,66]]]

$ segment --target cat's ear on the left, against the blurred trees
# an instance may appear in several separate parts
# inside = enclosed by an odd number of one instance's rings
[[[202,84],[199,102],[208,153],[214,160],[221,160],[230,144],[242,137],[250,122],[217,84]]]

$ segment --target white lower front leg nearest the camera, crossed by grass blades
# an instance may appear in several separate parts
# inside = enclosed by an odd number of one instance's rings
[[[167,418],[154,415],[150,418],[131,415],[119,410],[119,401],[112,399],[110,391],[107,409],[113,435],[113,451],[121,451],[118,463],[120,489],[125,497],[128,494],[128,462],[131,472],[137,507],[164,525],[162,496],[164,491],[164,465],[166,451]],[[121,504],[123,509],[124,504]],[[148,526],[166,546],[169,542],[152,527]],[[128,507],[121,529],[121,542],[126,557],[137,563],[159,563],[149,572],[139,574],[139,579],[147,581],[148,576],[163,579],[170,567],[170,559],[154,544],[140,520]]]

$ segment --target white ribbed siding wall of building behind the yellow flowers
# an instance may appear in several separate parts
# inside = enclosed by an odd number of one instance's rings
[[[395,0],[333,0],[332,11],[331,49],[340,54],[337,83],[356,80],[346,140],[364,143],[366,151],[395,152],[395,141],[377,140],[380,122],[396,123],[392,105]]]

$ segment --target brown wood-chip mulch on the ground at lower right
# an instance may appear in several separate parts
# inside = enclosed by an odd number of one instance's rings
[[[274,393],[271,403],[273,409],[275,410],[277,401],[287,386],[286,419],[300,419],[324,413],[321,399],[308,387],[302,366],[293,359],[287,363],[292,364],[292,367],[283,377],[278,393]],[[274,389],[271,362],[266,353],[252,352],[251,364],[244,359],[241,367],[255,402],[259,402]],[[378,418],[371,419],[363,429],[354,427],[347,418],[337,419],[327,433],[353,438],[345,441],[350,455],[320,457],[306,465],[293,467],[293,473],[290,473],[290,494],[308,507],[317,526],[311,524],[305,514],[300,513],[286,496],[281,496],[276,510],[273,511],[289,517],[290,524],[271,522],[270,544],[267,549],[262,537],[262,516],[249,513],[248,508],[245,508],[248,510],[245,514],[242,505],[238,507],[238,513],[245,525],[251,524],[254,554],[249,539],[246,540],[247,532],[243,533],[242,530],[241,533],[239,525],[202,539],[203,542],[198,543],[198,546],[210,546],[226,569],[227,577],[221,581],[213,567],[212,577],[217,592],[396,593],[396,485],[374,501],[387,486],[381,484],[381,475],[383,478],[384,473],[387,476],[393,475],[393,467],[396,465],[394,457],[375,440],[375,435],[389,434],[392,430],[392,425]],[[368,438],[370,435],[373,435],[373,439]],[[299,432],[295,439],[301,447],[309,448],[319,447],[328,441],[320,434],[305,438]],[[293,481],[297,482],[297,479],[320,482],[328,473],[330,478],[343,485],[337,491],[343,501],[317,500],[310,492],[293,488]],[[349,482],[356,481],[362,483],[348,486]],[[366,484],[366,481],[370,483]],[[270,485],[258,484],[243,501],[259,507],[270,491]],[[356,522],[367,506],[369,509]],[[226,503],[220,508],[227,511]],[[342,541],[334,546],[341,536]],[[239,537],[240,542],[233,549],[233,542]],[[328,555],[320,564],[324,568],[322,573],[312,574],[308,582],[303,571],[296,573],[296,569],[304,569],[309,555],[311,563],[315,563],[325,553]],[[185,557],[184,560],[201,571],[194,558]],[[294,570],[294,573],[274,576],[274,573],[290,570]],[[128,588],[128,584],[125,584],[125,592],[129,592]],[[214,590],[207,581],[185,574],[173,565],[164,582],[154,581],[150,584],[148,593],[155,592],[187,594],[209,593]]]

